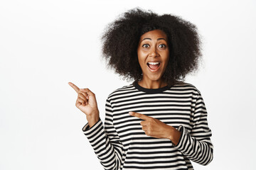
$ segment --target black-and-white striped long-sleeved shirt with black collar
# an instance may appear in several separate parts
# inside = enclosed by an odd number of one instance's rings
[[[169,139],[147,136],[142,113],[181,132],[175,146]],[[212,135],[200,91],[180,82],[159,89],[145,89],[136,81],[113,91],[106,100],[105,123],[99,120],[82,131],[104,169],[193,169],[191,161],[207,165],[213,159]]]

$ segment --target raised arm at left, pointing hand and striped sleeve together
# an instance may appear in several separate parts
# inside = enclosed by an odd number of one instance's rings
[[[123,145],[119,140],[113,126],[112,106],[107,99],[105,105],[105,128],[100,119],[95,94],[89,89],[79,89],[78,86],[68,83],[78,94],[75,106],[85,113],[88,123],[82,128],[87,139],[92,145],[95,154],[100,159],[104,169],[118,170],[121,166]]]

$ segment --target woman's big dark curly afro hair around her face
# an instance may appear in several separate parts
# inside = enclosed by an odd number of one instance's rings
[[[163,78],[169,86],[184,81],[186,74],[198,69],[201,40],[197,28],[179,16],[158,15],[133,8],[110,23],[102,35],[102,57],[107,66],[123,79],[139,81],[142,69],[137,48],[141,35],[151,30],[163,30],[169,44],[169,63]]]

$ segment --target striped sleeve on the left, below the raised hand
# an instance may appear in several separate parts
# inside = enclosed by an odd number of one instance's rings
[[[112,107],[108,99],[105,105],[105,112],[105,128],[102,120],[99,120],[91,128],[87,123],[82,128],[82,131],[92,145],[104,169],[118,170],[121,166],[124,147],[119,140],[117,131],[114,129]]]

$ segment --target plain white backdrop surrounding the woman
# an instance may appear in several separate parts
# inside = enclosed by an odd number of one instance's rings
[[[134,7],[194,23],[203,63],[186,82],[201,91],[214,158],[195,169],[255,169],[256,1],[1,1],[0,169],[102,169],[82,133],[68,85],[105,100],[124,81],[101,60],[108,23]]]

